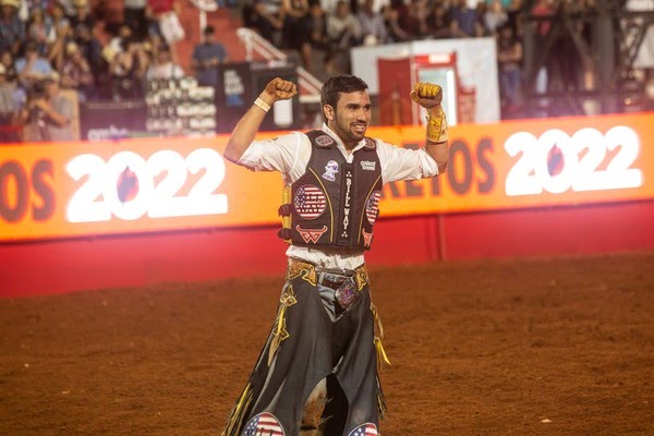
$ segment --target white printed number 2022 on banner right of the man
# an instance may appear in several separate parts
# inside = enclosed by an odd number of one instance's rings
[[[601,169],[607,152],[620,147]],[[606,134],[596,129],[582,129],[570,137],[553,129],[538,138],[528,132],[511,135],[505,143],[509,156],[522,155],[507,174],[507,195],[531,195],[547,191],[560,194],[572,191],[604,191],[638,187],[643,183],[642,170],[630,168],[640,152],[638,134],[627,126],[615,126]],[[588,152],[584,154],[584,149]],[[553,171],[553,155],[558,167]],[[556,166],[556,165],[555,165]]]

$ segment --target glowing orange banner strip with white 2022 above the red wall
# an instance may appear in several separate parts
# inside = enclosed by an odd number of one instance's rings
[[[386,185],[382,216],[654,198],[652,125],[652,113],[458,125],[447,172]],[[424,143],[424,128],[368,135]],[[221,135],[0,147],[0,241],[279,222],[280,174],[226,161],[226,143]]]

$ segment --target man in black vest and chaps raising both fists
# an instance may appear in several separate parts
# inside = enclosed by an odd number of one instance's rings
[[[377,435],[385,411],[377,364],[386,358],[363,253],[383,184],[446,168],[443,93],[417,84],[411,94],[429,114],[421,150],[365,136],[367,85],[349,75],[323,86],[322,130],[254,141],[270,107],[296,93],[293,83],[270,81],[225,150],[252,170],[283,174],[280,237],[291,246],[277,320],[222,435]]]

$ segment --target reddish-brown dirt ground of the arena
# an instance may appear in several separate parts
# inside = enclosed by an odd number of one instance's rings
[[[274,278],[0,300],[0,435],[219,435]],[[374,268],[396,435],[654,435],[654,253]]]

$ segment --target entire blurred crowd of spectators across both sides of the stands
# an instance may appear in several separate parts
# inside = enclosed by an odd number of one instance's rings
[[[214,0],[206,0],[214,1]],[[494,37],[502,113],[523,105],[522,0],[216,0],[240,11],[243,25],[276,47],[296,52],[319,77],[350,71],[350,48],[417,39]],[[0,0],[0,140],[32,126],[32,140],[66,137],[72,109],[61,90],[78,101],[144,98],[153,78],[179,78],[175,43],[185,37],[180,0]],[[554,16],[560,8],[584,14],[595,0],[536,0],[534,16]],[[536,26],[537,47],[552,22]],[[583,20],[580,34],[591,45]],[[217,83],[218,65],[229,60],[215,31],[190,55],[199,85]],[[584,55],[561,36],[538,86],[559,90],[592,84],[592,50]],[[578,46],[579,44],[577,44]],[[189,55],[185,55],[189,56]],[[585,56],[585,57],[584,57]],[[187,64],[189,62],[186,62]],[[45,120],[45,121],[44,121]],[[47,129],[44,129],[43,126]]]

